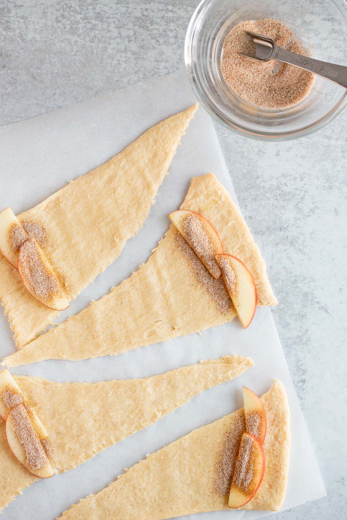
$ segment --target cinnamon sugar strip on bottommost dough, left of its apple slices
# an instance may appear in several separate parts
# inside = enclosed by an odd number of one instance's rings
[[[232,484],[232,476],[235,469],[235,463],[240,448],[242,434],[245,431],[244,415],[236,420],[233,430],[225,434],[224,444],[217,464],[215,466],[215,483],[214,488],[217,495],[225,497],[229,495],[230,486]]]

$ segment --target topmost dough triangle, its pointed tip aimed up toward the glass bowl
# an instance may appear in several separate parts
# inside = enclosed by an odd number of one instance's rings
[[[69,301],[120,255],[126,240],[142,227],[197,107],[153,126],[107,163],[18,215],[20,221],[38,221],[46,228],[45,253],[65,281]],[[2,254],[0,297],[19,348],[59,314],[31,296]]]

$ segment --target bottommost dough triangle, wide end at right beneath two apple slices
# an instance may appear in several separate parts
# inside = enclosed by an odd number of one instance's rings
[[[267,432],[265,474],[253,499],[240,509],[278,511],[287,489],[290,417],[285,389],[275,381],[261,397]],[[131,467],[97,495],[73,505],[63,520],[161,520],[209,511],[227,510],[229,475],[221,473],[223,457],[236,454],[245,416],[238,410],[192,431]],[[224,495],[217,491],[222,477]],[[230,511],[230,510],[229,510]]]

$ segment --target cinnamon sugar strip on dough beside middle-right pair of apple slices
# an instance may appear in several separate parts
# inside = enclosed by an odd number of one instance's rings
[[[201,260],[197,257],[190,245],[182,237],[181,233],[177,231],[176,243],[178,248],[182,251],[184,256],[188,259],[192,271],[202,285],[205,291],[208,292],[212,300],[215,302],[220,313],[227,313],[233,306],[232,301],[222,278],[216,280],[205,268]]]

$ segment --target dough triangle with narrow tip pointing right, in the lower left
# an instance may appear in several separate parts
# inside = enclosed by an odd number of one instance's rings
[[[46,426],[55,466],[62,473],[253,365],[250,358],[226,356],[145,379],[55,383],[24,375],[13,377]],[[38,479],[12,454],[5,423],[0,421],[1,511]]]

